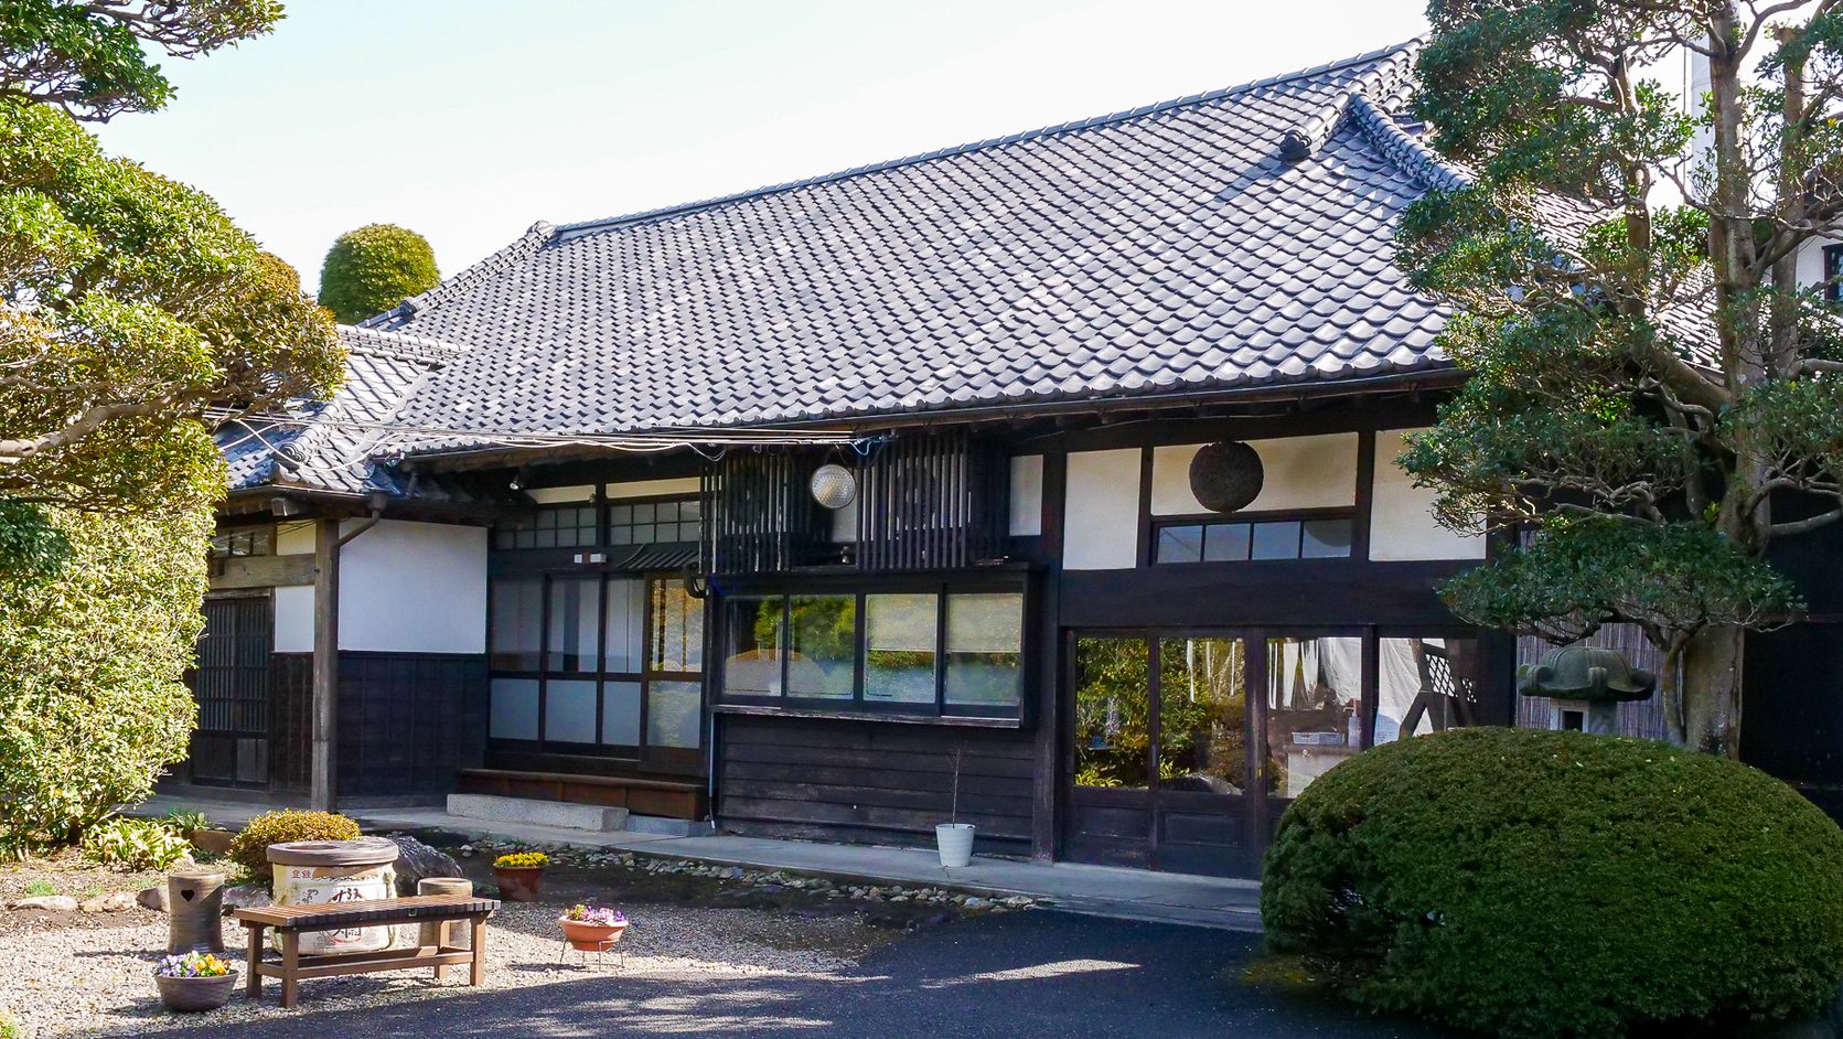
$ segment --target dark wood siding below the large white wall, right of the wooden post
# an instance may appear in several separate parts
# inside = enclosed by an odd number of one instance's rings
[[[485,741],[485,656],[339,654],[341,800],[452,794]]]

